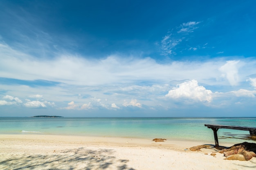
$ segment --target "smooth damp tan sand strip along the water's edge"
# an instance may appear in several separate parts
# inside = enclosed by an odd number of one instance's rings
[[[85,135],[53,135],[53,134],[0,134],[0,140],[32,140],[45,142],[61,142],[66,144],[90,144],[108,146],[157,146],[171,148],[190,148],[197,145],[215,145],[214,141],[177,140],[167,139],[164,142],[155,142],[149,138],[138,137],[111,137],[111,136],[85,136]],[[232,146],[234,142],[220,142],[222,146]]]

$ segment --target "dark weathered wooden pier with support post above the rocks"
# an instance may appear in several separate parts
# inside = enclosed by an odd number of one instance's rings
[[[250,135],[256,135],[256,128],[254,127],[247,127],[247,126],[227,126],[227,125],[209,125],[205,124],[207,128],[211,128],[213,130],[214,140],[215,140],[215,147],[219,147],[218,135],[217,131],[221,128],[223,129],[234,129],[234,130],[247,130],[250,132]]]

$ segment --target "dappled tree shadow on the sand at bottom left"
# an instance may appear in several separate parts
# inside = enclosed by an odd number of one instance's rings
[[[46,155],[16,155],[0,161],[4,170],[135,170],[115,150],[77,148]]]

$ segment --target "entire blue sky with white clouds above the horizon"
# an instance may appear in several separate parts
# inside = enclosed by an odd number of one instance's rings
[[[0,0],[0,117],[255,117],[255,0]]]

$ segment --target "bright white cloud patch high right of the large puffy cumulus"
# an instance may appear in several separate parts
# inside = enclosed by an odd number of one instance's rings
[[[227,78],[231,86],[238,85],[238,82],[239,82],[238,68],[240,67],[238,65],[239,62],[240,62],[239,60],[227,61],[219,69],[222,72],[222,77]]]

